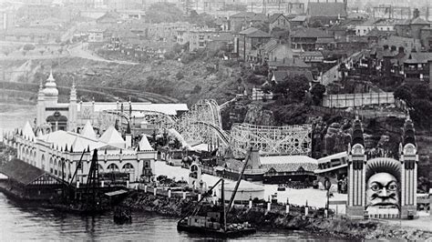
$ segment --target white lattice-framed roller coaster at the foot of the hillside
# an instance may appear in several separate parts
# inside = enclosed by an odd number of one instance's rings
[[[105,110],[100,113],[100,128],[121,123],[143,121],[155,128],[175,129],[188,144],[209,144],[222,150],[231,147],[236,158],[244,158],[248,147],[255,146],[262,156],[309,155],[312,126],[253,126],[234,124],[231,133],[221,128],[221,106],[215,100],[200,100],[179,118],[150,110]]]

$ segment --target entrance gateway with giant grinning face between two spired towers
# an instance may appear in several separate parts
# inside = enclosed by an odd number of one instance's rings
[[[355,119],[348,147],[349,217],[408,218],[417,211],[417,146],[407,118],[397,157],[367,156],[363,127]],[[398,159],[397,159],[398,158]]]

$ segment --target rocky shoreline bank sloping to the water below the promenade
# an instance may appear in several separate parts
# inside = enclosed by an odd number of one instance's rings
[[[196,201],[179,197],[161,197],[141,192],[134,192],[127,197],[123,206],[133,210],[154,212],[163,216],[181,217],[197,205]],[[228,217],[231,222],[249,222],[255,227],[278,227],[302,229],[315,234],[330,237],[358,239],[409,239],[425,240],[432,237],[431,232],[414,228],[401,228],[373,220],[351,220],[344,218],[324,219],[304,217],[297,213],[286,215],[283,212],[267,212],[262,207],[234,207]]]

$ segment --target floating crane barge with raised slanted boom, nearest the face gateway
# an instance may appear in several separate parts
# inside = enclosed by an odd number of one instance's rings
[[[240,174],[234,191],[231,194],[231,199],[228,207],[225,206],[225,197],[223,190],[224,179],[221,178],[213,187],[209,189],[206,194],[204,194],[198,204],[200,204],[201,201],[206,197],[210,197],[212,194],[212,189],[216,187],[219,183],[221,183],[222,211],[202,212],[202,206],[197,207],[196,209],[192,210],[190,214],[187,214],[180,219],[180,221],[177,223],[177,229],[180,231],[200,233],[216,237],[241,237],[255,233],[256,229],[247,222],[242,224],[228,224],[226,219],[227,214],[229,214],[232,203],[234,201],[235,194],[237,193],[237,189],[239,188],[240,181],[242,180],[242,175],[244,173],[244,169],[247,165],[248,159],[249,156],[244,162],[242,173]]]

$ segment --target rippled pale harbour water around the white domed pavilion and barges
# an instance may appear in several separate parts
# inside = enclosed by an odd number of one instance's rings
[[[0,104],[0,128],[13,130],[32,122],[36,106]],[[214,240],[177,231],[177,219],[148,213],[133,213],[132,223],[117,225],[112,213],[90,217],[60,213],[53,209],[18,205],[0,193],[0,241],[10,240]],[[303,231],[259,229],[236,241],[334,241]]]

